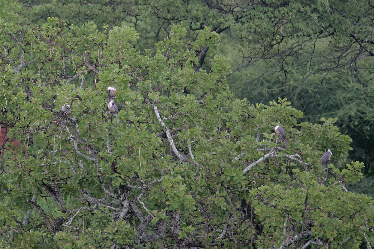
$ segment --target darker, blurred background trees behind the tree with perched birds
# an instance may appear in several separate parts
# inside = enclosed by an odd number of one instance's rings
[[[201,47],[199,66],[210,70],[215,53],[230,58],[230,89],[239,99],[266,103],[286,97],[304,112],[303,121],[337,117],[353,138],[350,158],[373,171],[372,0],[22,0],[24,23],[49,16],[70,24],[94,21],[130,25],[140,34],[139,51],[151,49],[182,23],[186,41],[209,26],[222,34],[222,49]],[[205,58],[207,58],[205,60]],[[372,174],[370,174],[372,175]],[[372,193],[374,194],[374,193]]]

